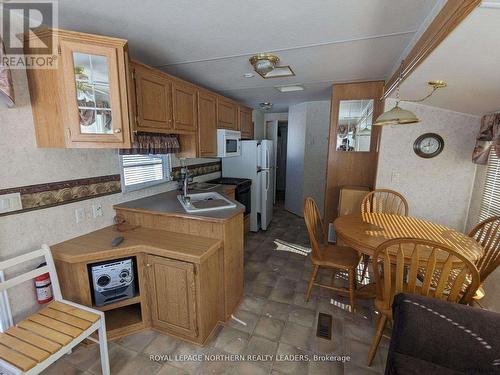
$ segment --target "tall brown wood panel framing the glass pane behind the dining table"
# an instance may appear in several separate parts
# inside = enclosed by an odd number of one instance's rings
[[[338,216],[340,188],[345,185],[375,186],[377,176],[378,148],[381,128],[372,127],[369,152],[337,151],[337,128],[341,100],[373,99],[373,119],[384,110],[380,100],[384,91],[383,81],[346,83],[333,85],[330,111],[330,141],[325,191],[325,224]]]

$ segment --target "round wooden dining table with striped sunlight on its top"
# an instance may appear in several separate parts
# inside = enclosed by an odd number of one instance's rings
[[[444,225],[411,216],[380,213],[352,214],[338,217],[333,225],[339,243],[370,257],[383,242],[405,237],[447,245],[472,263],[476,263],[483,254],[483,248],[473,238]],[[403,251],[405,251],[404,248]],[[412,249],[408,249],[408,252],[410,251]],[[430,251],[431,249],[429,249],[429,255]],[[425,256],[425,251],[422,251],[422,256]],[[444,253],[436,257],[437,263],[445,260]],[[369,298],[373,297],[374,291],[373,284],[370,284],[360,289],[357,295],[361,298]]]

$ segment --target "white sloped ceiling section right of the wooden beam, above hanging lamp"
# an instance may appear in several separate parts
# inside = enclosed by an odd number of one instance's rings
[[[474,10],[403,82],[401,96],[423,97],[427,81],[442,79],[448,87],[424,104],[478,116],[499,111],[499,5],[484,2]]]

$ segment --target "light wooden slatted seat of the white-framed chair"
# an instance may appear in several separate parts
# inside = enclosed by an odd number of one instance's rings
[[[71,343],[99,320],[99,315],[51,302],[38,313],[0,333],[0,359],[28,371]]]

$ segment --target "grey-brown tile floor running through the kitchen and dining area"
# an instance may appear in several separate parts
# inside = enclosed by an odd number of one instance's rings
[[[277,205],[271,227],[251,233],[245,241],[245,297],[235,312],[235,320],[219,327],[209,343],[201,348],[170,336],[145,331],[110,342],[113,375],[175,374],[308,374],[363,375],[382,374],[388,340],[382,339],[372,367],[366,366],[376,315],[371,301],[358,300],[355,314],[348,312],[346,299],[328,290],[314,288],[311,300],[304,302],[304,291],[311,274],[310,261],[297,254],[274,250],[274,239],[308,246],[302,218]],[[331,273],[320,274],[324,282]],[[338,283],[343,280],[338,278]],[[332,304],[333,302],[333,304]],[[319,312],[332,314],[332,340],[316,337]],[[208,354],[262,355],[254,362],[176,362],[151,361],[151,354],[173,356]],[[290,355],[305,358],[322,354],[348,355],[350,361],[285,361]],[[273,361],[264,355],[280,356]],[[302,356],[302,357],[300,357]],[[216,357],[215,357],[216,358]],[[56,362],[44,374],[100,374],[97,345],[78,347],[71,355]]]

